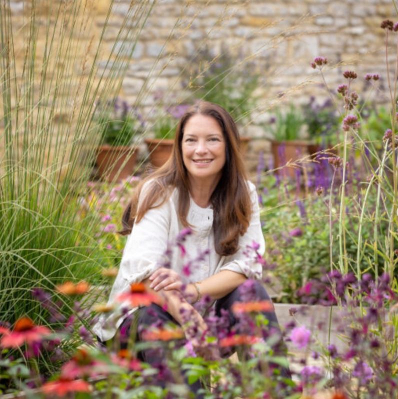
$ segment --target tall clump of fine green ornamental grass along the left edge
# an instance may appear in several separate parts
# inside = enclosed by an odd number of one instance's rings
[[[103,41],[109,13],[98,40],[89,42],[86,32],[96,20],[90,7],[80,1],[29,3],[26,34],[14,28],[8,2],[0,2],[0,320],[10,323],[22,315],[48,322],[46,311],[32,300],[32,288],[54,292],[66,280],[98,282],[108,265],[95,237],[98,220],[81,211],[104,128],[98,123],[104,116],[94,108],[116,97],[128,66],[124,47],[136,41],[152,4],[144,1],[126,12],[116,38],[121,50],[112,48],[106,74],[98,70],[98,56],[103,46],[109,53]],[[39,42],[43,53],[35,51]],[[15,57],[14,43],[26,48],[22,60]],[[93,49],[89,60],[88,47]],[[126,116],[125,137],[131,123]],[[115,130],[113,123],[105,125]],[[98,207],[106,200],[104,195]],[[73,312],[72,300],[59,300],[65,316]]]

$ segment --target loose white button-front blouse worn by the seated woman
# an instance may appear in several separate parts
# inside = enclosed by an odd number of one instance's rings
[[[150,181],[142,187],[138,206],[149,184]],[[168,200],[161,206],[149,209],[138,223],[133,224],[131,234],[127,237],[108,304],[114,303],[121,292],[128,291],[131,283],[140,282],[149,277],[167,260],[171,260],[171,268],[181,276],[184,276],[183,266],[192,260],[190,274],[184,277],[186,282],[203,280],[221,270],[236,271],[248,278],[261,278],[262,266],[255,256],[255,251],[248,246],[257,243],[257,252],[262,255],[265,243],[260,225],[257,192],[253,183],[248,181],[247,184],[253,211],[247,231],[239,237],[239,248],[233,255],[220,256],[215,251],[212,229],[213,210],[210,206],[202,208],[190,198],[186,219],[193,231],[185,236],[183,242],[185,255],[180,248],[173,245],[176,236],[184,228],[178,219],[177,189],[174,188]],[[171,251],[168,251],[170,257],[167,258],[168,248]],[[136,308],[130,310],[128,314],[134,310]],[[94,325],[93,331],[102,341],[108,340],[113,337],[122,320],[120,310],[113,311],[111,314],[102,314]]]

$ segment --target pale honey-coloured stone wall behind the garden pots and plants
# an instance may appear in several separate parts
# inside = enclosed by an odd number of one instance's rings
[[[90,33],[101,31],[109,2],[98,2]],[[345,69],[358,73],[354,83],[358,92],[364,87],[367,72],[379,73],[378,85],[382,90],[386,87],[384,31],[379,26],[381,20],[395,16],[391,0],[149,1],[153,8],[140,32],[134,23],[137,14],[127,20],[139,34],[136,42],[126,45],[116,37],[118,27],[131,4],[139,12],[140,5],[147,2],[114,1],[98,74],[105,68],[106,48],[110,53],[116,42],[116,50],[124,52],[128,62],[120,95],[137,105],[148,121],[165,105],[192,100],[187,86],[193,76],[184,70],[205,67],[193,64],[205,46],[214,55],[226,48],[237,67],[243,65],[242,73],[245,63],[250,63],[260,74],[257,107],[242,128],[245,134],[258,138],[269,136],[260,124],[266,123],[275,107],[305,103],[310,95],[319,100],[327,96],[319,74],[309,65],[314,56],[327,57],[324,74],[331,90],[343,82]],[[23,12],[21,4],[11,1],[15,17]],[[150,123],[148,126],[150,130]],[[256,152],[261,148],[268,151],[264,140],[256,140],[254,147]]]

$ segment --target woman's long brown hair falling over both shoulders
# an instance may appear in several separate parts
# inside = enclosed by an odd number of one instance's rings
[[[131,232],[134,221],[139,222],[145,212],[163,204],[172,189],[178,191],[178,217],[182,225],[189,227],[186,216],[189,210],[189,180],[182,160],[182,136],[187,120],[195,115],[213,117],[222,129],[225,139],[225,164],[221,178],[211,194],[213,208],[213,230],[215,251],[219,255],[231,255],[238,249],[239,235],[246,232],[251,217],[250,193],[246,182],[246,172],[239,150],[239,133],[229,113],[220,105],[199,101],[190,107],[178,122],[173,150],[167,162],[141,181],[130,204],[122,217],[123,231]],[[145,197],[138,197],[142,185],[151,180]]]

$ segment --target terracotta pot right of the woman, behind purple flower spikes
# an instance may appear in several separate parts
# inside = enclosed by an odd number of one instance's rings
[[[308,141],[271,141],[271,151],[273,155],[273,167],[283,166],[289,160],[294,162],[303,156],[308,155]],[[276,171],[281,175],[295,177],[295,168],[285,166]]]

